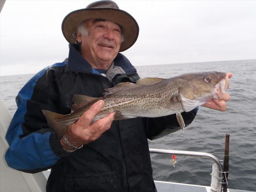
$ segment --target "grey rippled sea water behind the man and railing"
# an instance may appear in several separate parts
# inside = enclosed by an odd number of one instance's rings
[[[149,140],[149,148],[200,151],[224,157],[225,135],[230,134],[229,188],[256,190],[256,59],[239,61],[198,62],[136,66],[141,78],[170,78],[190,72],[231,72],[227,93],[227,111],[199,107],[194,121],[183,131],[158,140]],[[15,97],[33,76],[0,77],[0,94],[11,115],[17,106]],[[151,154],[154,180],[210,186],[211,160],[176,155],[175,168],[171,155]]]

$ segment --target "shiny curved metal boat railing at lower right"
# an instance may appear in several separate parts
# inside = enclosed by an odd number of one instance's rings
[[[171,150],[171,149],[152,149],[149,148],[150,153],[157,153],[157,154],[168,154],[168,155],[184,155],[184,156],[190,156],[190,157],[205,157],[213,160],[215,164],[217,165],[218,168],[218,175],[217,177],[217,183],[216,183],[216,190],[217,192],[221,192],[221,187],[222,187],[222,174],[223,174],[223,169],[222,169],[222,164],[219,161],[217,157],[210,153],[206,152],[196,152],[196,151],[178,151],[178,150]],[[213,178],[213,177],[212,177]],[[213,180],[213,179],[212,179]],[[213,183],[213,181],[212,181]]]

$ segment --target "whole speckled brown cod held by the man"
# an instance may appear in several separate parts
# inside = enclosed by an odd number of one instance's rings
[[[70,114],[62,115],[46,110],[42,112],[59,140],[67,127],[99,100],[103,100],[105,104],[92,123],[111,112],[115,112],[114,120],[160,117],[176,113],[183,129],[181,112],[189,112],[211,99],[222,99],[228,87],[229,78],[223,72],[187,73],[168,79],[141,78],[136,84],[122,82],[108,88],[100,98],[74,95]]]

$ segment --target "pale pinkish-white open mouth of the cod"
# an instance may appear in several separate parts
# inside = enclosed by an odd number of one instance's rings
[[[226,75],[225,78],[221,79],[221,81],[213,87],[212,99],[221,100],[227,88],[229,88],[229,77]]]

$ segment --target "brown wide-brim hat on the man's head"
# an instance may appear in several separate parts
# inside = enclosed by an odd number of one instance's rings
[[[119,52],[129,49],[137,40],[139,25],[128,12],[119,9],[118,5],[110,0],[102,0],[89,4],[85,9],[69,13],[62,21],[62,33],[69,43],[73,43],[73,33],[79,24],[88,19],[105,19],[113,21],[123,27],[124,41]]]

